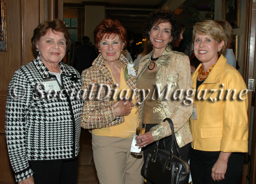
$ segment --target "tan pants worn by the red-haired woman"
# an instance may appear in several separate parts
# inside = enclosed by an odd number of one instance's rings
[[[92,134],[94,164],[100,184],[143,184],[143,157],[130,153],[133,138]]]

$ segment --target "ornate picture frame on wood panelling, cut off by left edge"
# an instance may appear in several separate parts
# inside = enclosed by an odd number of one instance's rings
[[[7,51],[5,0],[0,0],[0,51]]]

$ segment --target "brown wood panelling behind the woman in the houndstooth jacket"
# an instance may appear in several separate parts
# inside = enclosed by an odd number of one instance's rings
[[[14,72],[36,58],[31,38],[39,23],[63,19],[63,0],[1,0],[5,2],[7,51],[0,51],[0,183],[16,183],[5,139],[7,88]],[[57,10],[57,11],[56,11]]]

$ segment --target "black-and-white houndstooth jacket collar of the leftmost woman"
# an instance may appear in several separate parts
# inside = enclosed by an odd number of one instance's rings
[[[33,60],[34,66],[39,71],[43,79],[52,77],[52,73],[49,71],[49,69],[43,64],[40,57],[37,56],[35,60]],[[63,62],[59,62],[60,65],[60,71],[61,75],[70,75],[70,72],[68,71],[68,68],[65,66]]]

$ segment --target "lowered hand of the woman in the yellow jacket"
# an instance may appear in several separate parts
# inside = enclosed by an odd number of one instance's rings
[[[220,181],[225,179],[225,173],[227,171],[227,162],[231,153],[220,152],[220,156],[217,162],[212,168],[212,178],[214,181]]]

